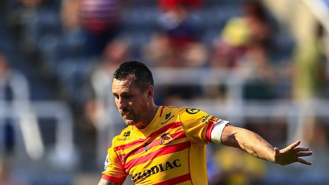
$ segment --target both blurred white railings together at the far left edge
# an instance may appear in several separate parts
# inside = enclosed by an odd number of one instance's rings
[[[5,100],[5,87],[11,89],[11,100]],[[14,128],[14,153],[17,158],[27,155],[39,160],[47,154],[38,119],[55,120],[54,151],[48,152],[50,159],[69,167],[75,162],[73,120],[70,108],[61,101],[30,101],[29,85],[19,72],[10,70],[0,78],[0,155],[5,151],[2,130],[4,124]],[[6,120],[10,120],[7,121]],[[51,133],[52,131],[49,131]]]

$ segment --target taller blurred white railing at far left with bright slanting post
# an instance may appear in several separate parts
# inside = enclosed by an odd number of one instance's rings
[[[10,101],[5,101],[5,88],[11,90]],[[18,71],[5,70],[0,78],[0,123],[6,118],[15,118],[15,130],[21,131],[23,147],[31,159],[39,159],[44,153],[41,133],[35,115],[30,110],[29,86],[26,78]],[[32,142],[33,141],[33,142]],[[3,141],[0,140],[0,151],[3,151]]]

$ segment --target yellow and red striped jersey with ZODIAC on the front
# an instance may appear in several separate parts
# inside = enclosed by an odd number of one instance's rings
[[[206,145],[219,119],[189,107],[160,106],[142,130],[126,127],[107,151],[102,178],[135,184],[207,184]]]

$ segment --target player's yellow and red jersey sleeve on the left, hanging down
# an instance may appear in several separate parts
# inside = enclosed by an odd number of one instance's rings
[[[113,143],[112,147],[107,150],[102,178],[113,182],[123,182],[128,174],[126,173],[117,153],[114,151],[114,146]]]

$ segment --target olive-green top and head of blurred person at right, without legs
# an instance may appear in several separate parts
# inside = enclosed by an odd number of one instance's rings
[[[297,100],[325,96],[322,90],[328,80],[323,26],[317,24],[314,33],[312,41],[300,43],[295,50],[293,93]]]

